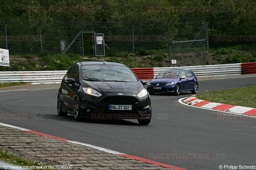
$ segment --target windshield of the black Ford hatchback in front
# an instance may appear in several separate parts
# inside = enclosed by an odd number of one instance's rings
[[[138,81],[135,74],[128,67],[107,64],[83,65],[82,77],[88,81]]]

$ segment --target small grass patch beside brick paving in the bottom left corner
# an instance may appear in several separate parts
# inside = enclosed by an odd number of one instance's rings
[[[40,164],[39,162],[33,162],[29,159],[17,157],[8,153],[7,150],[3,151],[2,149],[0,149],[0,160],[16,166],[48,166]]]

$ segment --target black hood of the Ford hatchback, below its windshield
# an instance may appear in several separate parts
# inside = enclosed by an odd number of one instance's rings
[[[83,87],[90,87],[100,93],[136,93],[138,94],[144,87],[138,82],[114,82],[114,81],[84,81]],[[81,82],[81,83],[82,83]]]

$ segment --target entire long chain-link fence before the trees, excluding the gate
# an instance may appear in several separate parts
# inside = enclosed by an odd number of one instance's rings
[[[11,54],[39,54],[46,51],[50,54],[92,55],[94,33],[104,33],[106,52],[116,50],[134,53],[140,49],[169,48],[171,56],[175,53],[174,49],[177,53],[182,50],[202,52],[204,43],[209,47],[207,20],[208,17],[120,22],[58,22],[2,18],[0,48],[9,49]],[[172,43],[174,41],[190,42],[184,42],[184,45]],[[200,57],[203,59],[203,55]],[[190,63],[194,65],[193,62]]]

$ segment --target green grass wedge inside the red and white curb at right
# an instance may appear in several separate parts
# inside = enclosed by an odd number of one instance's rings
[[[196,94],[196,98],[216,103],[256,108],[256,86]]]

